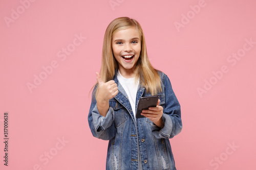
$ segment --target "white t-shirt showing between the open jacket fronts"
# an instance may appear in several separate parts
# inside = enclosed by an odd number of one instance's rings
[[[125,90],[126,94],[128,95],[128,99],[130,101],[130,104],[132,106],[133,115],[136,121],[136,110],[135,110],[135,104],[136,104],[136,95],[137,95],[137,89],[139,85],[139,80],[135,81],[134,78],[124,78],[120,74],[119,70],[117,73],[117,80],[122,85],[123,89]]]

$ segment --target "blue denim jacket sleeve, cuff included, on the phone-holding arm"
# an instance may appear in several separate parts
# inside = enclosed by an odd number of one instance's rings
[[[153,134],[156,138],[173,138],[179,134],[182,129],[180,104],[174,94],[169,78],[163,76],[163,90],[165,93],[165,103],[162,119],[164,127],[160,129],[152,126]]]

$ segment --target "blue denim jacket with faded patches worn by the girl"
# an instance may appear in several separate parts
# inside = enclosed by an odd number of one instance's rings
[[[88,122],[94,137],[109,140],[106,169],[138,169],[139,153],[143,169],[176,169],[169,138],[179,134],[182,129],[180,104],[168,77],[161,71],[159,75],[162,81],[162,92],[158,93],[160,106],[163,107],[162,129],[146,117],[135,121],[127,94],[118,83],[117,74],[113,80],[119,92],[109,101],[110,108],[105,117],[99,114],[95,96],[92,98]],[[139,99],[149,95],[151,93],[147,93],[139,84],[136,109]]]

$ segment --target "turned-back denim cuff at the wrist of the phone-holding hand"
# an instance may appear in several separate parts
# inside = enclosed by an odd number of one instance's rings
[[[156,138],[170,138],[170,134],[173,130],[173,121],[168,114],[163,113],[162,119],[164,127],[161,129],[158,126],[152,126],[152,133]]]

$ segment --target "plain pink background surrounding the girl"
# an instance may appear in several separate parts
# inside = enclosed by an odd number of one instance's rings
[[[255,1],[47,0],[23,3],[26,8],[21,2],[30,1],[0,2],[1,169],[105,168],[108,141],[90,132],[89,91],[105,29],[120,16],[140,22],[148,56],[168,75],[181,104],[183,130],[170,139],[177,169],[255,169]],[[34,75],[44,80],[29,90]]]

